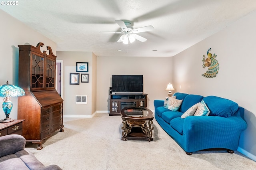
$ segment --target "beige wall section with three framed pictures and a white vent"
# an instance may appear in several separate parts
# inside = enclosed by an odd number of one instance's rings
[[[63,60],[63,114],[72,116],[92,115],[96,112],[96,56],[92,52],[57,51]],[[88,62],[88,72],[76,72],[76,62]],[[70,73],[79,73],[79,85],[70,85]],[[89,83],[81,83],[81,73],[89,74]],[[87,95],[88,104],[76,104],[76,95]]]

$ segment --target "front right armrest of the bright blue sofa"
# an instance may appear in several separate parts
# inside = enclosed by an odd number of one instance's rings
[[[186,117],[183,125],[184,150],[186,152],[208,148],[236,150],[240,134],[246,127],[247,124],[240,115],[233,115],[229,118],[219,116]]]

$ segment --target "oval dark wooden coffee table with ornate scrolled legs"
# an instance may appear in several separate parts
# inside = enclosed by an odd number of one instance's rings
[[[123,119],[122,140],[153,140],[153,113],[146,107],[125,107],[121,110]]]

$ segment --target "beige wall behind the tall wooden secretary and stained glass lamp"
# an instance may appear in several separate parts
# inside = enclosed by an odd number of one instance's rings
[[[46,46],[52,48],[52,52],[56,55],[56,43],[32,30],[22,22],[16,20],[9,14],[0,10],[0,85],[6,84],[8,80],[10,84],[18,86],[18,62],[19,48],[18,45],[33,45],[43,42],[44,47],[41,50],[48,51]],[[0,106],[2,100],[0,98]],[[17,119],[18,98],[12,97],[13,108],[10,117]],[[4,111],[0,109],[0,119],[4,119]]]

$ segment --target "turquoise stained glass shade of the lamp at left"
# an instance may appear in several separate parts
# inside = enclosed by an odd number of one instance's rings
[[[18,86],[6,84],[0,86],[0,97],[19,97],[24,96],[25,91]]]

